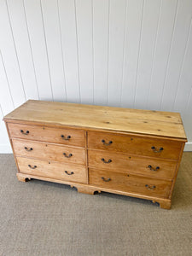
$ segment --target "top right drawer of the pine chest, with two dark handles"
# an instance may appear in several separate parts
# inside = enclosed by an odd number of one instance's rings
[[[88,148],[177,160],[182,143],[165,139],[88,132]]]

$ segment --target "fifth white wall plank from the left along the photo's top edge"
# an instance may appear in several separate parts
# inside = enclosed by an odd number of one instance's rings
[[[79,59],[74,0],[58,0],[68,102],[80,102]]]

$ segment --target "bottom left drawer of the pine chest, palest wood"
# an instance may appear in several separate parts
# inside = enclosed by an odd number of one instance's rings
[[[19,170],[22,173],[32,174],[40,177],[86,183],[85,166],[68,165],[46,160],[34,160],[17,157]]]

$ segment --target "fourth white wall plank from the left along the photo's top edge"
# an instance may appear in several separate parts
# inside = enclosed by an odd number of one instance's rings
[[[57,0],[42,0],[44,31],[54,101],[67,101]],[[51,19],[50,19],[51,17]]]

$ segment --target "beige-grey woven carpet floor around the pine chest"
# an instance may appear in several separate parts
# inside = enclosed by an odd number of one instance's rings
[[[67,185],[17,180],[0,154],[0,255],[192,255],[192,153],[185,152],[172,209]]]

